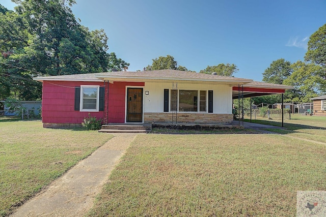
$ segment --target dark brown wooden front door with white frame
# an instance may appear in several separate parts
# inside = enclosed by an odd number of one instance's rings
[[[127,88],[127,122],[143,122],[143,88]]]

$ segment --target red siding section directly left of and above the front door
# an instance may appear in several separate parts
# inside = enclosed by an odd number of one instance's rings
[[[125,122],[126,86],[144,86],[144,82],[114,82],[108,85],[108,122]]]

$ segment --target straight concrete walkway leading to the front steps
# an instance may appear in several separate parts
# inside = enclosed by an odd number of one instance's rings
[[[12,216],[83,216],[93,206],[108,175],[137,134],[114,134]]]

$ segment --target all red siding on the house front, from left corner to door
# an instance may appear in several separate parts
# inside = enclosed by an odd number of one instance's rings
[[[80,112],[74,110],[75,87],[80,85],[100,85],[104,82],[86,81],[43,81],[42,122],[44,127],[69,127],[69,124],[80,125],[88,116],[104,118],[108,123],[125,122],[126,86],[144,86],[144,82],[105,83],[104,111]],[[108,99],[108,100],[107,100]],[[105,121],[106,122],[106,121]]]

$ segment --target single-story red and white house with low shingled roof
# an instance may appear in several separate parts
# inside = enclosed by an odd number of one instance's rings
[[[291,86],[178,70],[105,72],[34,78],[43,82],[43,127],[104,123],[227,124],[232,99],[282,94]]]

